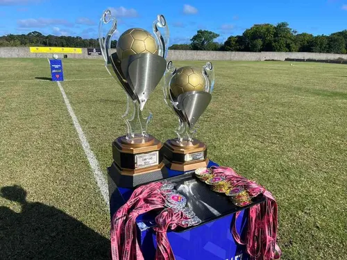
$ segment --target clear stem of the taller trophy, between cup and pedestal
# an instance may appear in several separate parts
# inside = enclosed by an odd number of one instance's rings
[[[147,125],[151,121],[152,114],[149,113],[149,116],[143,117],[142,110],[137,100],[133,101],[130,96],[128,96],[126,114],[124,114],[123,119],[126,121],[128,127],[128,134],[126,137],[128,139],[137,138],[137,137],[149,137],[147,134]]]

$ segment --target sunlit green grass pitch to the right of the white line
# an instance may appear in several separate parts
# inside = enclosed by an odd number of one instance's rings
[[[65,69],[84,67],[75,60]],[[89,76],[105,76],[94,60]],[[198,66],[205,62],[174,62]],[[214,62],[216,86],[197,137],[211,159],[264,185],[278,199],[282,259],[344,259],[347,225],[346,66],[293,62]],[[101,69],[97,69],[97,66]],[[67,82],[65,92],[101,168],[124,135],[126,96],[115,80]],[[149,132],[175,137],[177,118],[155,89],[145,106]]]

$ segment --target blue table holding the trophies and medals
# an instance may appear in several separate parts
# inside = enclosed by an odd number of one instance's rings
[[[209,167],[217,165],[210,162]],[[183,175],[183,172],[169,170],[169,177]],[[117,209],[124,205],[133,193],[133,189],[117,187],[110,175],[108,176],[110,189],[110,214],[113,216]],[[242,209],[237,219],[237,229],[240,233],[247,225],[245,212]],[[235,214],[221,216],[211,222],[192,227],[183,232],[168,232],[167,236],[174,250],[176,260],[244,260],[248,259],[245,248],[237,245],[230,227]],[[144,259],[153,260],[156,250],[155,232],[153,232],[154,216],[146,214],[137,218],[137,226],[141,235],[141,248]]]

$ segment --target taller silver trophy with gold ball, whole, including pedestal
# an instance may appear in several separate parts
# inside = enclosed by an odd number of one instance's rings
[[[104,37],[106,24],[111,26]],[[164,177],[162,143],[147,133],[152,114],[143,116],[142,112],[167,67],[169,28],[164,16],[158,15],[153,23],[154,36],[142,28],[130,28],[119,37],[115,52],[110,46],[116,31],[117,19],[106,10],[99,24],[99,43],[108,73],[126,92],[127,106],[122,117],[128,128],[126,135],[112,143],[109,174],[119,187],[135,187]]]

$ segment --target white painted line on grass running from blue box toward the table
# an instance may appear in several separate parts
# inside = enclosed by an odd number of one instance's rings
[[[49,59],[47,58],[49,61]],[[65,94],[65,90],[60,84],[60,81],[57,81],[58,87],[60,89],[60,92],[62,93],[62,98],[64,98],[65,105],[67,107],[67,111],[69,112],[72,122],[74,123],[76,132],[78,134],[78,137],[81,141],[81,145],[83,147],[83,150],[85,151],[85,156],[88,159],[88,162],[90,164],[90,167],[92,168],[94,179],[96,181],[96,184],[98,184],[99,189],[101,191],[101,196],[103,196],[103,200],[105,200],[106,205],[108,206],[108,209],[110,208],[110,204],[108,201],[108,184],[105,180],[105,177],[103,175],[103,172],[101,171],[100,165],[98,160],[96,159],[93,151],[90,149],[90,144],[87,141],[87,137],[85,137],[85,134],[81,128],[80,123],[78,122],[78,119],[76,117],[76,114],[74,113],[74,110],[71,107],[69,98],[67,98],[67,95]]]

